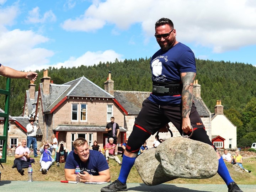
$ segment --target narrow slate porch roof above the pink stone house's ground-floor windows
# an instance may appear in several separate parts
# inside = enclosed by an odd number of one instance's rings
[[[59,125],[53,130],[58,131],[102,131],[105,132],[106,126],[86,126],[86,125]],[[127,130],[123,127],[119,127],[120,132],[126,132]]]

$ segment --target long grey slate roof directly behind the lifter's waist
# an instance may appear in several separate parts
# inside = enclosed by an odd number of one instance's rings
[[[142,102],[149,97],[150,92],[143,91],[114,91],[114,97],[124,107],[128,114],[139,114]],[[210,111],[202,98],[194,98],[199,116],[209,117]]]

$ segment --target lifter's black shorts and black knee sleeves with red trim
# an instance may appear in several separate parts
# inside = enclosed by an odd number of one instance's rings
[[[139,112],[138,117],[135,120],[135,124],[138,126],[134,126],[133,131],[130,134],[126,150],[137,153],[146,139],[150,137],[150,134],[154,135],[160,128],[169,122],[172,122],[182,135],[181,111],[181,105],[161,106],[149,100],[144,100],[142,110]],[[191,139],[207,143],[216,150],[206,133],[203,122],[194,103],[191,108],[190,121],[193,129],[196,128]]]

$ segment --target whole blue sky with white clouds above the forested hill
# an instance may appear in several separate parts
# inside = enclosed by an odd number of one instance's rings
[[[0,63],[29,71],[149,58],[161,17],[196,58],[256,66],[255,0],[0,0]]]

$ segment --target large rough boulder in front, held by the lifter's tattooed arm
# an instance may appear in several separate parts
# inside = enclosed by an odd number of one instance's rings
[[[218,170],[218,158],[213,147],[192,139],[167,139],[158,145],[155,157],[170,177],[210,178]]]

